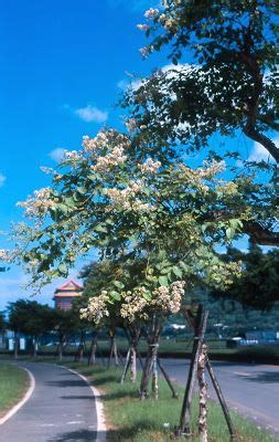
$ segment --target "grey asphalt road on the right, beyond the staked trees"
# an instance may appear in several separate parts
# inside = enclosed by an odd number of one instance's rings
[[[185,386],[189,361],[162,359],[171,378]],[[235,362],[212,362],[230,408],[253,419],[279,436],[279,367]],[[210,394],[216,398],[207,376]],[[278,439],[279,440],[279,439]]]

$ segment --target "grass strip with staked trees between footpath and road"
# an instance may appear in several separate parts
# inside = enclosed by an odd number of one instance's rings
[[[167,385],[160,382],[160,399],[152,396],[140,401],[137,389],[139,383],[131,385],[129,380],[120,386],[121,371],[116,368],[109,370],[82,364],[66,364],[86,376],[104,394],[101,400],[105,407],[110,442],[168,442],[172,439],[172,431],[179,423],[183,390],[178,388],[180,399],[172,399]],[[232,412],[237,429],[237,441],[242,442],[271,442],[278,439],[271,436],[239,414]],[[193,404],[192,428],[196,429],[197,402]],[[165,424],[165,425],[164,425]],[[210,404],[208,432],[211,442],[228,442],[229,435],[219,407]],[[185,439],[182,439],[185,440]],[[189,440],[189,439],[187,439]],[[191,439],[198,441],[196,430]]]

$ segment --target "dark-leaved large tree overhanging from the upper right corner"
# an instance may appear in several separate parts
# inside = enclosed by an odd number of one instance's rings
[[[168,0],[162,9],[147,11],[147,23],[139,28],[150,44],[142,53],[167,46],[173,65],[126,95],[136,154],[168,158],[205,148],[215,134],[244,134],[278,161],[272,139],[279,128],[277,13],[272,0]],[[245,140],[240,151],[246,151]],[[276,187],[272,161],[259,166]],[[250,167],[250,161],[244,164],[244,169]],[[255,242],[278,244],[275,199],[262,203],[273,214],[259,212],[245,230]]]

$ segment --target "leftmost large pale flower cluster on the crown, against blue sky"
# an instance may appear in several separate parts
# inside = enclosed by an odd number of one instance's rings
[[[25,209],[26,217],[43,217],[49,209],[55,207],[50,187],[34,191],[34,197],[29,197],[26,201],[19,201],[17,206]]]

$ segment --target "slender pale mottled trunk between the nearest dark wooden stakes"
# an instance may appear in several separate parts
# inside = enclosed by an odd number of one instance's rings
[[[200,442],[207,442],[207,383],[205,381],[205,366],[207,360],[207,347],[202,345],[197,361],[197,381],[200,387],[200,413],[198,413],[198,436]]]

